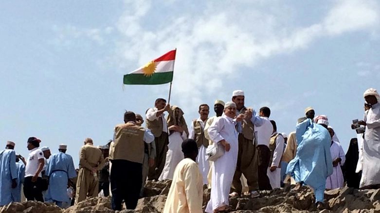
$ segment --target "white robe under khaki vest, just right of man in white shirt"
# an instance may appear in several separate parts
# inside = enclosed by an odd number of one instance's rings
[[[282,153],[284,151],[284,142],[284,137],[281,134],[279,134],[275,141],[276,148],[273,151],[272,164],[269,165],[267,170],[267,176],[269,178],[269,181],[271,182],[272,189],[281,187],[281,168],[278,167],[280,166]],[[277,166],[276,170],[271,172],[271,166]]]

